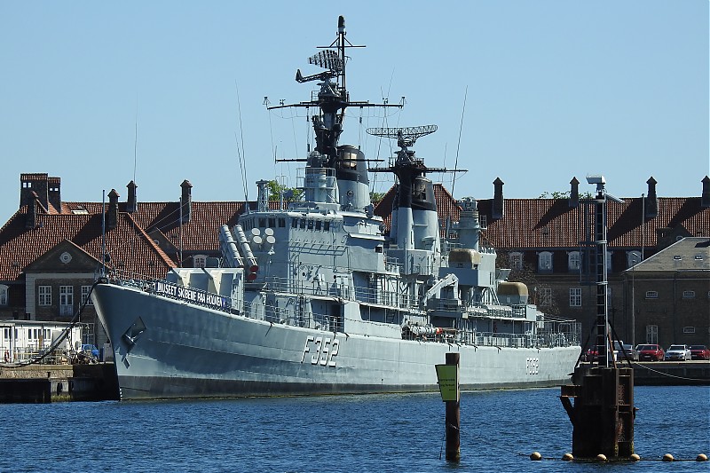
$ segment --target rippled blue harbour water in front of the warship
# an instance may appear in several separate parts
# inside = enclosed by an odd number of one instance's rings
[[[572,425],[558,395],[461,393],[458,464],[443,459],[438,393],[0,405],[0,471],[710,471],[694,461],[710,454],[710,387],[636,387],[643,461],[614,465],[559,460]]]

